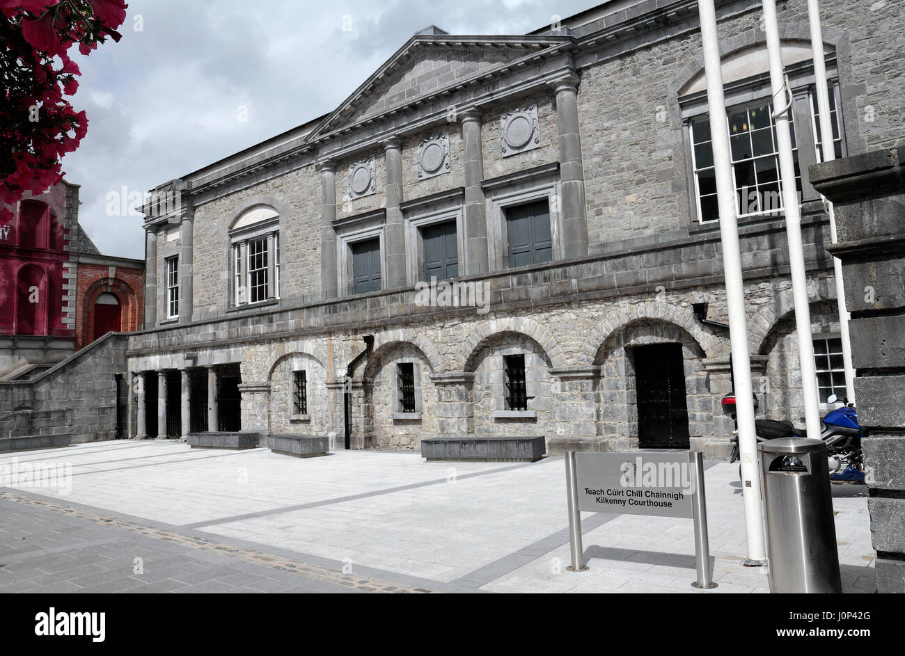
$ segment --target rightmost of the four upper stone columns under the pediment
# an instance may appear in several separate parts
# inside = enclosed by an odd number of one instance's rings
[[[565,258],[587,254],[587,217],[585,208],[585,168],[581,158],[578,130],[578,76],[570,73],[552,82],[557,94],[559,123],[559,178]]]

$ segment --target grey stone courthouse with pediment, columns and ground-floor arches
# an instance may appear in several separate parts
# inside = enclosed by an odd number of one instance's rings
[[[902,5],[822,5],[837,152],[895,144]],[[717,10],[755,386],[762,414],[798,420],[763,14],[759,0]],[[806,176],[822,82],[805,0],[778,10],[825,399],[844,384],[828,217]],[[727,452],[694,0],[614,0],[529,34],[432,26],[329,115],[155,192],[145,330],[127,353],[132,435]]]

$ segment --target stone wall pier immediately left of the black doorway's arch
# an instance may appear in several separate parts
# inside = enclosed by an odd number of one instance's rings
[[[550,369],[550,376],[554,381],[550,419],[555,433],[547,436],[549,455],[606,451],[607,442],[598,434],[600,367],[565,366]]]

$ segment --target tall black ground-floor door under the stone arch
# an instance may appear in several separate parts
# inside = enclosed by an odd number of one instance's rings
[[[688,405],[681,344],[635,347],[638,446],[688,449]]]

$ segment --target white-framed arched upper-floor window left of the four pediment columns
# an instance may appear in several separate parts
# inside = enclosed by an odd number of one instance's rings
[[[280,298],[280,214],[254,205],[230,226],[233,305]]]

